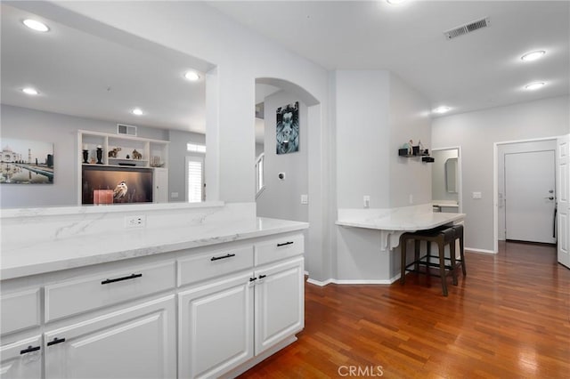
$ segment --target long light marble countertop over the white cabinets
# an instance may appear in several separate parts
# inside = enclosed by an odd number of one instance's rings
[[[136,229],[107,235],[61,238],[4,248],[0,278],[20,278],[138,256],[210,246],[246,238],[305,230],[307,222],[258,217],[251,222],[211,222],[183,228]]]

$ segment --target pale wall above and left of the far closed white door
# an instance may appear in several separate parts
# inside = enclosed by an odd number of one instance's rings
[[[466,247],[494,250],[493,144],[567,134],[568,109],[570,97],[561,96],[434,119],[433,147],[461,146]]]

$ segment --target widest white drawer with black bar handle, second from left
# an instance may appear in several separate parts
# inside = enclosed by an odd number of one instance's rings
[[[175,274],[173,261],[45,286],[45,321],[174,288]]]

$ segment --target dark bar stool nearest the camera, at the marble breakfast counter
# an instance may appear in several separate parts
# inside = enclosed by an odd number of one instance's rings
[[[403,233],[400,237],[400,246],[401,246],[401,258],[402,258],[402,266],[400,270],[400,283],[403,285],[405,283],[405,274],[406,271],[415,271],[422,273],[419,270],[419,265],[426,266],[425,274],[429,277],[430,274],[430,267],[438,267],[439,268],[439,277],[442,279],[442,293],[444,296],[447,296],[447,272],[449,271],[452,274],[453,285],[457,286],[457,262],[455,260],[455,235],[456,232],[452,228],[445,228],[445,229],[436,229],[436,230],[421,230],[416,231],[413,233]],[[407,245],[408,241],[414,241],[414,261],[407,264],[406,257],[407,257]],[[420,243],[421,241],[426,241],[427,243],[427,254],[423,257],[420,257]],[[438,263],[431,262],[431,243],[435,242],[437,245],[438,250]],[[450,258],[451,264],[445,264],[445,246],[450,246]],[[425,262],[423,259],[426,259]],[[414,266],[413,270],[409,270],[408,268]]]

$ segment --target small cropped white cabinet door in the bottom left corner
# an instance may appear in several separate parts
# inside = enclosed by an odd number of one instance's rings
[[[0,348],[0,378],[40,378],[42,376],[41,336],[8,343]]]

